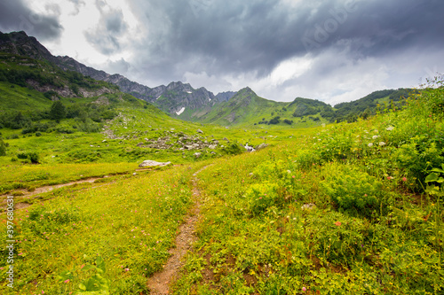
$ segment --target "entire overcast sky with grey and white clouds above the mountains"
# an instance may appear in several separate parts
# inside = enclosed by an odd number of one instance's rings
[[[0,30],[155,87],[335,105],[444,72],[443,0],[2,0]]]

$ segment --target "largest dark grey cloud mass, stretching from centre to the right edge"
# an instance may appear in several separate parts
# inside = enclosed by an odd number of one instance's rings
[[[444,45],[443,1],[130,2],[143,10],[139,20],[149,27],[140,58],[165,77],[197,67],[208,74],[263,77],[282,60],[334,47],[360,59]],[[196,56],[198,65],[191,62]]]

